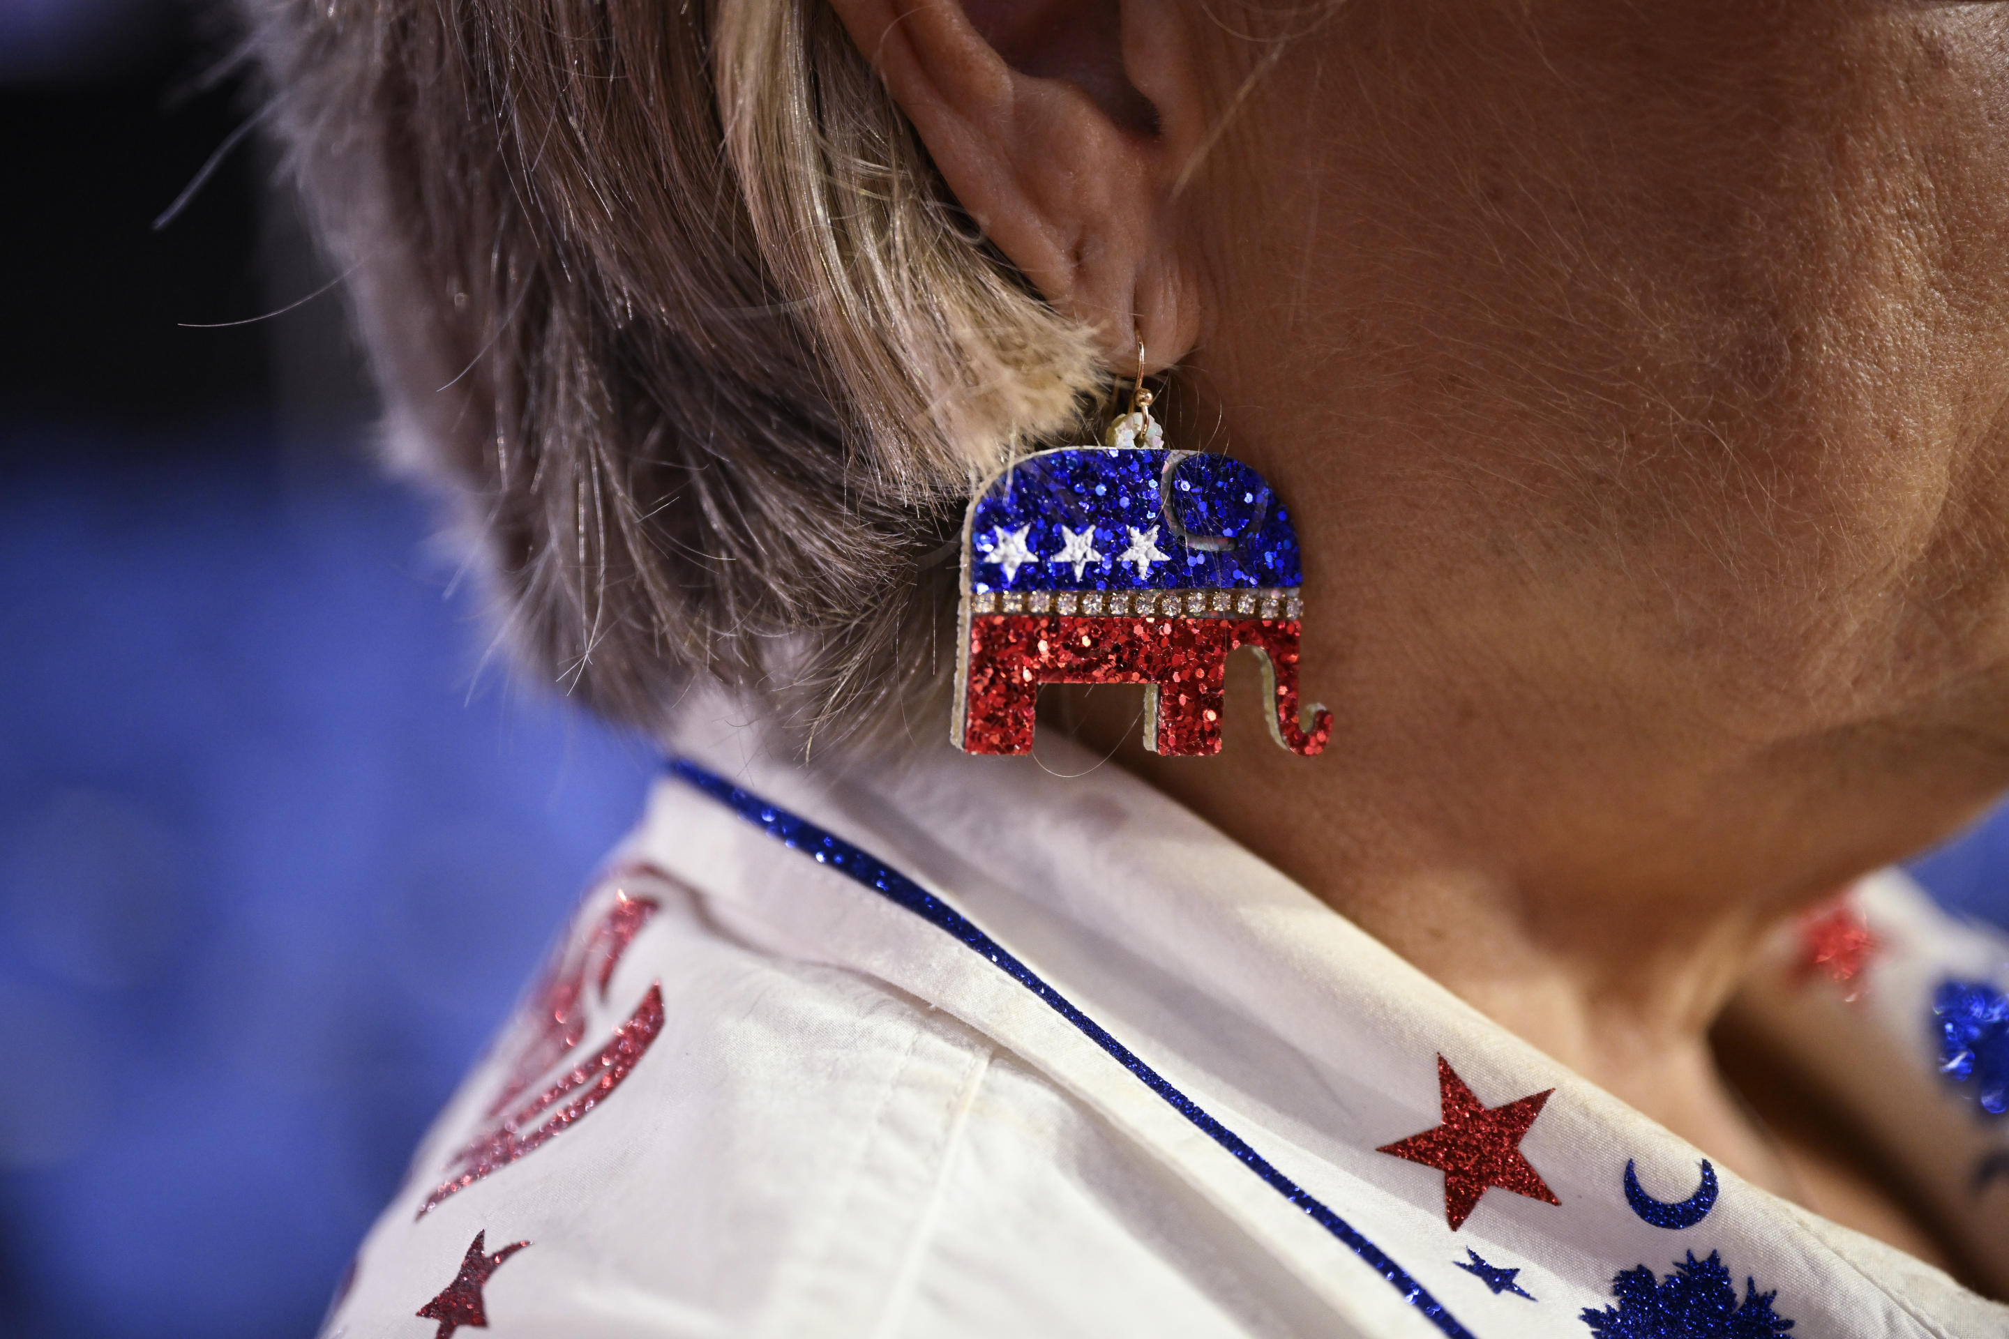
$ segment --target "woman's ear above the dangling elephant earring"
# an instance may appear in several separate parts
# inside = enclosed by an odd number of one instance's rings
[[[956,201],[1111,367],[1199,337],[1175,183],[1205,143],[1177,6],[830,0]]]

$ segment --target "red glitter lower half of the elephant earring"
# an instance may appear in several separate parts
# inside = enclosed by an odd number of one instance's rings
[[[1312,757],[1332,737],[1332,713],[1320,709],[1310,731],[1298,723],[1298,628],[1294,618],[974,614],[962,747],[1031,753],[1043,683],[1139,683],[1157,687],[1159,753],[1219,753],[1227,654],[1258,646],[1276,679],[1276,739]]]

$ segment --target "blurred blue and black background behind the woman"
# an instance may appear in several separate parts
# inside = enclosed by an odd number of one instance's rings
[[[269,153],[153,229],[227,52],[0,0],[6,1337],[311,1335],[653,767],[486,656]],[[1919,873],[2009,921],[2009,819]]]

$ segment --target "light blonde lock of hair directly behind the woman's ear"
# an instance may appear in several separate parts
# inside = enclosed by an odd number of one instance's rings
[[[1099,381],[1063,321],[966,235],[912,126],[820,0],[723,0],[725,145],[777,281],[804,303],[886,484],[966,488],[1067,428]],[[898,476],[912,474],[912,480]]]

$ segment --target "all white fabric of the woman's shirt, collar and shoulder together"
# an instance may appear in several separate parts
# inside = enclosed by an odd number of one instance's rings
[[[1680,1200],[1696,1148],[1113,767],[1065,779],[942,749],[838,773],[773,763],[751,739],[713,727],[681,749],[960,909],[1473,1335],[1591,1335],[1579,1313],[1615,1305],[1617,1271],[1667,1277],[1690,1251],[1720,1253],[1740,1297],[1746,1277],[1776,1289],[1794,1339],[2009,1335],[2009,1309],[1724,1168],[1700,1225],[1643,1223],[1627,1160]],[[494,1124],[534,1020],[506,1032],[366,1241],[327,1339],[434,1333],[416,1311],[476,1231],[488,1251],[530,1243],[482,1289],[496,1339],[1442,1333],[984,956],[715,799],[665,779],[609,867],[575,935],[617,893],[661,911],[605,1000],[589,990],[583,1042],[538,1086],[651,984],[661,1034],[571,1128],[416,1217]],[[1969,1174],[2009,1146],[2009,1122],[1983,1122],[1933,1072],[1927,1022],[1949,972],[2001,986],[2003,948],[1901,875],[1858,897],[1886,944],[1866,1002],[1778,982],[1780,1034],[1838,1054],[1836,1082],[1892,1138],[1923,1130],[1909,1174],[2001,1267],[2009,1176],[1975,1194]],[[1884,1068],[1860,1064],[1862,1038],[1882,1038]],[[1559,1207],[1493,1188],[1450,1231],[1442,1174],[1374,1152],[1438,1124],[1438,1054],[1487,1106],[1555,1088],[1521,1150]],[[1535,1301],[1457,1269],[1467,1249],[1519,1269]]]

